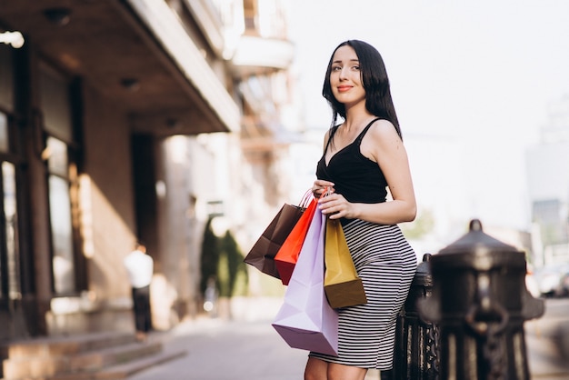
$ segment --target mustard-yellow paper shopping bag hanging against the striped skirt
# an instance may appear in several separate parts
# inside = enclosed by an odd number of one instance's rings
[[[328,302],[334,308],[367,303],[340,221],[326,218],[325,225],[324,291]]]

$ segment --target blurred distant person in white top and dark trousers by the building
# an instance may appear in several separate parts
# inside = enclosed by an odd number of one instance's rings
[[[132,288],[136,339],[144,342],[146,334],[152,329],[150,283],[154,260],[146,255],[145,245],[137,244],[135,250],[126,255],[124,264]]]

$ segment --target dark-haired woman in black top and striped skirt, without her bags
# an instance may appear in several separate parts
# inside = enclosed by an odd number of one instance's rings
[[[364,380],[368,368],[393,365],[396,315],[417,265],[397,226],[414,220],[413,182],[384,61],[373,46],[357,40],[338,45],[323,95],[333,119],[312,190],[317,197],[332,191],[319,206],[341,219],[368,303],[338,310],[338,355],[311,352],[304,379]]]

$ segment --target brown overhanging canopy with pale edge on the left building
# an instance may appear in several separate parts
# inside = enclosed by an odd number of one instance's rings
[[[0,30],[84,78],[131,116],[135,131],[236,131],[239,109],[162,0],[0,0]]]

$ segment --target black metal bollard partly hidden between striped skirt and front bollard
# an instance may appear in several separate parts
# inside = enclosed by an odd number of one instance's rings
[[[397,317],[394,368],[381,380],[436,380],[438,378],[438,326],[419,316],[417,302],[433,293],[430,254],[417,266],[404,308]]]

